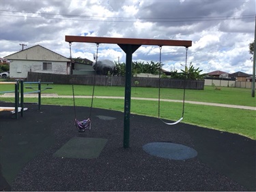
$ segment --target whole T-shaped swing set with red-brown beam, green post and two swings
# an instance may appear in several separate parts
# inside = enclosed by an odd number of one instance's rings
[[[122,50],[126,53],[126,82],[125,82],[125,95],[124,95],[124,148],[129,147],[130,143],[130,99],[131,99],[131,78],[132,78],[132,54],[141,46],[159,46],[160,47],[160,64],[161,64],[161,49],[162,46],[184,46],[186,48],[186,61],[187,61],[187,52],[188,47],[192,46],[192,41],[185,40],[165,40],[165,39],[134,39],[134,38],[115,38],[115,37],[87,37],[87,36],[72,36],[66,35],[66,42],[70,44],[70,61],[71,57],[71,44],[72,42],[81,42],[81,43],[95,43],[97,44],[97,56],[98,56],[98,45],[99,44],[117,44]],[[96,57],[97,63],[97,57]],[[160,65],[161,66],[161,65]],[[159,77],[160,77],[159,69]],[[95,74],[94,74],[94,86],[95,86]],[[175,123],[166,123],[160,118],[160,78],[159,78],[159,93],[158,93],[158,118],[167,125],[175,125],[182,121],[184,116],[184,100],[185,100],[185,88],[186,88],[186,78],[184,79],[184,97],[183,97],[183,108],[182,108],[182,117]],[[73,101],[74,101],[74,85],[72,83],[73,91]],[[91,108],[94,99],[94,88],[91,98]],[[74,119],[75,125],[79,131],[85,131],[85,129],[91,129],[91,108],[90,115],[87,120],[78,121],[76,119],[76,110],[74,103]]]

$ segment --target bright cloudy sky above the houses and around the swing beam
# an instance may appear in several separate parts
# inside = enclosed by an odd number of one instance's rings
[[[255,0],[0,0],[0,57],[40,45],[70,57],[65,35],[189,40],[187,65],[202,73],[253,74],[248,45],[255,37]],[[96,44],[72,43],[72,57],[93,61]],[[125,62],[116,44],[98,59]],[[158,46],[141,46],[133,61],[159,62]],[[163,69],[180,71],[186,48],[163,46]]]

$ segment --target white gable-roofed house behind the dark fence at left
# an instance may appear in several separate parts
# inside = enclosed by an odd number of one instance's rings
[[[4,59],[10,61],[10,78],[27,78],[27,73],[37,72],[46,74],[70,74],[70,59],[37,45]]]

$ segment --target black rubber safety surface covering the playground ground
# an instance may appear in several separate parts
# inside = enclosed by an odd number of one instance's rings
[[[79,133],[72,107],[42,106],[41,112],[35,104],[26,107],[18,120],[0,113],[0,191],[256,191],[255,140],[131,114],[130,148],[123,148],[123,112],[94,108],[91,130]],[[79,120],[88,113],[89,108],[76,108]],[[98,153],[58,157],[72,138],[96,139],[90,146],[100,139]],[[154,142],[187,146],[197,156],[173,160],[143,150]],[[70,151],[79,146],[71,144]]]

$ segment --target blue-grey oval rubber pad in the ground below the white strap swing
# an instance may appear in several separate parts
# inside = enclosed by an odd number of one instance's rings
[[[150,155],[173,160],[186,160],[197,156],[195,149],[169,142],[148,143],[143,146],[143,150]]]

